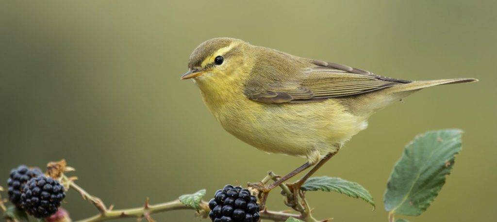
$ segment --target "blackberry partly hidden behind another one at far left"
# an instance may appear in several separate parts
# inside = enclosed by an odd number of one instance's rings
[[[29,169],[25,165],[10,170],[10,178],[7,180],[8,200],[18,208],[21,208],[21,189],[31,178],[43,174],[40,169]]]

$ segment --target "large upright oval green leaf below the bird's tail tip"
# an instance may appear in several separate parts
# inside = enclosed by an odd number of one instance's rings
[[[406,146],[384,196],[385,210],[418,216],[438,195],[461,151],[461,130],[429,131]]]

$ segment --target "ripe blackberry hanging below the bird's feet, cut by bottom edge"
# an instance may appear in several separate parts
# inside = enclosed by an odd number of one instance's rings
[[[232,185],[216,191],[209,201],[209,208],[213,222],[257,222],[260,218],[257,198],[247,189]]]

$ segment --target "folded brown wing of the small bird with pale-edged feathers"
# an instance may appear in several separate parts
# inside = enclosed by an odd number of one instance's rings
[[[263,103],[319,102],[328,98],[371,92],[411,81],[383,77],[348,66],[309,60],[302,74],[285,80],[274,79],[264,87],[250,85],[248,98]],[[277,74],[278,75],[278,74]],[[275,75],[275,76],[277,76]],[[285,74],[279,74],[285,75]]]

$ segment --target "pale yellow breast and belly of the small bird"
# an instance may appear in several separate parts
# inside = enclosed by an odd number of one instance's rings
[[[233,82],[197,79],[205,104],[223,128],[267,152],[307,156],[317,161],[366,127],[339,100],[267,104],[248,99]],[[208,83],[207,83],[208,82]],[[214,90],[215,89],[215,90]],[[314,160],[314,159],[315,160]]]

